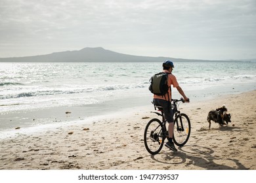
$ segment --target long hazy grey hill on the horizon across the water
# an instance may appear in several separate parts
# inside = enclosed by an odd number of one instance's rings
[[[171,59],[173,61],[207,61],[199,59],[179,59],[164,57],[146,57],[119,54],[104,48],[83,48],[82,50],[56,52],[41,56],[26,56],[18,58],[0,58],[0,62],[135,62],[135,61],[163,61]]]

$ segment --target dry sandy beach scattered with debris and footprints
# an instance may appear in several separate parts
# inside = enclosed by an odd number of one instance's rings
[[[209,130],[209,110],[223,104],[232,123],[221,127],[212,122]],[[192,133],[178,152],[164,146],[160,154],[151,156],[144,148],[144,127],[150,118],[158,118],[150,113],[154,107],[148,105],[89,124],[81,120],[75,125],[2,139],[0,169],[256,169],[256,90],[181,103],[179,108],[190,117]]]

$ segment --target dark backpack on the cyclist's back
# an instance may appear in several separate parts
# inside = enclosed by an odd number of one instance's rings
[[[165,95],[168,90],[168,75],[170,73],[158,73],[153,75],[150,78],[150,86],[149,86],[149,90],[151,93],[154,93],[155,95]]]

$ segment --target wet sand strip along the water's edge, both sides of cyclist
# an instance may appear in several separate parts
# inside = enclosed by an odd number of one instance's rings
[[[186,95],[190,98],[191,103],[198,103],[216,97],[219,98],[223,95],[228,96],[255,90],[255,85],[248,84],[249,83],[240,84],[238,86],[215,86],[202,90],[190,89],[186,92]],[[184,90],[188,88],[184,88]],[[181,95],[177,90],[173,90],[173,97],[179,99]],[[72,124],[72,122],[83,122],[83,120],[89,121],[91,118],[96,118],[97,116],[112,113],[114,115],[116,112],[123,113],[125,110],[129,110],[129,108],[152,107],[151,101],[152,95],[149,93],[143,97],[130,96],[124,99],[113,99],[91,105],[35,108],[32,110],[20,109],[11,112],[1,112],[0,132],[2,134],[0,135],[0,139],[2,139],[5,134],[15,133],[15,131],[17,131],[15,130],[16,128],[36,129],[36,127],[38,127],[41,129],[51,127],[51,125],[54,127],[58,124]]]

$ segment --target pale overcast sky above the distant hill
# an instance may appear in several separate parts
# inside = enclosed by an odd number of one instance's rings
[[[85,47],[256,58],[256,0],[0,0],[0,58]]]

